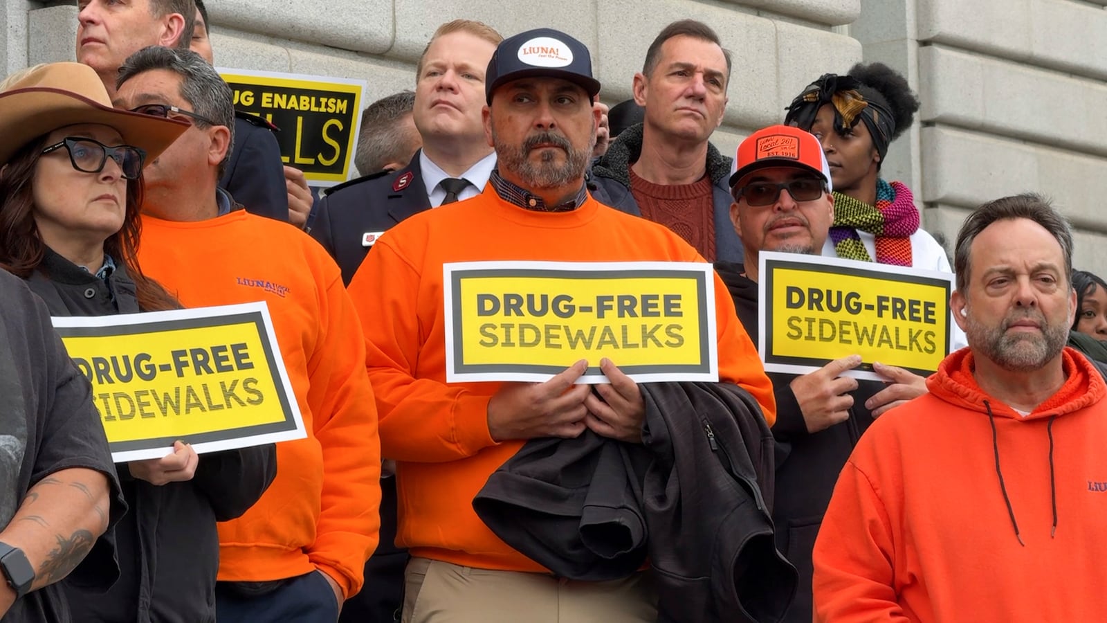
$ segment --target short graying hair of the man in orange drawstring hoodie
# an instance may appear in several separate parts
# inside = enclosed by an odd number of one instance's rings
[[[989,225],[996,221],[1026,218],[1041,225],[1061,245],[1065,256],[1065,280],[1070,282],[1073,274],[1073,229],[1068,221],[1049,204],[1049,200],[1036,193],[1024,193],[1002,197],[977,207],[958,233],[958,246],[953,254],[953,270],[956,273],[958,289],[965,292],[969,275],[972,269],[970,252],[972,243]]]

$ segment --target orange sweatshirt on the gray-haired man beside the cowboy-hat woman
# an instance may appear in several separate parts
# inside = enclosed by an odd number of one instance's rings
[[[267,302],[308,429],[277,445],[277,478],[254,508],[219,524],[219,580],[319,569],[356,593],[380,528],[380,442],[338,266],[303,232],[245,210],[192,223],[144,216],[139,261],[188,307]]]

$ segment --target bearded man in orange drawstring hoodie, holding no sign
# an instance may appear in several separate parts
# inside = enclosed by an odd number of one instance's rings
[[[1107,613],[1107,394],[1065,347],[1073,237],[1037,195],[958,236],[969,347],[878,419],[815,544],[816,621],[1093,621]]]

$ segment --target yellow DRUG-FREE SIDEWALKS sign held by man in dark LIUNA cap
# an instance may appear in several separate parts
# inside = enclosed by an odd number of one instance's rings
[[[675,262],[446,264],[446,380],[718,380],[714,273]]]

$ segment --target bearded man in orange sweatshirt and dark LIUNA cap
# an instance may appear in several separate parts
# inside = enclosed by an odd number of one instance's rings
[[[703,258],[664,226],[601,205],[586,191],[600,84],[583,44],[549,29],[517,34],[499,44],[485,81],[485,135],[498,154],[488,186],[390,229],[350,284],[368,340],[383,455],[396,460],[397,541],[413,556],[403,621],[652,622],[648,574],[555,578],[473,510],[488,477],[527,439],[576,438],[590,429],[641,442],[641,389],[607,359],[600,369],[610,385],[577,385],[584,361],[545,382],[447,384],[443,265]],[[772,385],[717,277],[714,292],[707,304],[717,314],[720,377],[746,388],[772,423]]]

